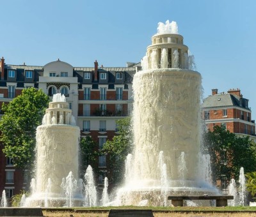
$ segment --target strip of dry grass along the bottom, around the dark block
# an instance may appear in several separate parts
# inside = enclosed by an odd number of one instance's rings
[[[56,207],[43,209],[44,216],[74,216],[74,217],[105,217],[108,216],[110,209],[152,209],[155,217],[167,216],[190,216],[190,217],[203,217],[203,216],[255,216],[256,207],[239,206],[239,207],[135,207],[135,206],[122,206],[122,207]]]

